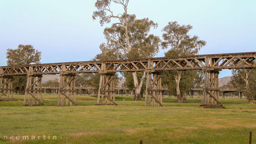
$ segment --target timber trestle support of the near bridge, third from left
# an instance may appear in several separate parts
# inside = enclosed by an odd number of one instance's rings
[[[60,98],[60,95],[62,97]],[[70,103],[69,103],[70,102]],[[57,106],[76,106],[75,74],[60,74]]]

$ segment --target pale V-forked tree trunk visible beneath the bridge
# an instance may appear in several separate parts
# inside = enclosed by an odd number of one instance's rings
[[[140,80],[140,84],[139,84],[138,78],[137,78],[137,72],[132,73],[132,75],[133,75],[133,84],[134,84],[134,88],[135,88],[134,99],[133,99],[134,101],[141,101],[140,91],[141,91],[141,88],[142,88],[143,81],[145,79],[145,74],[146,74],[146,72],[144,71],[143,76]]]

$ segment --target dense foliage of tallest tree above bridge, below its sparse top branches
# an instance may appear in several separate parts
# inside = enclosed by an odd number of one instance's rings
[[[159,52],[160,38],[149,34],[151,28],[157,28],[158,24],[150,21],[148,18],[140,20],[135,15],[126,15],[128,24],[128,34],[125,34],[125,28],[122,25],[113,24],[104,29],[104,35],[107,44],[102,43],[100,49],[102,57],[109,55],[112,59],[134,59],[151,58]],[[121,17],[124,21],[124,15]],[[129,46],[127,47],[127,39]]]

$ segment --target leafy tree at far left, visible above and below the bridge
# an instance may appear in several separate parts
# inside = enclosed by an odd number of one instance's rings
[[[32,45],[20,44],[17,49],[7,49],[6,58],[7,65],[38,64],[41,60],[41,52],[34,49]],[[14,76],[12,80],[14,91],[20,91],[20,94],[24,94],[26,76]]]

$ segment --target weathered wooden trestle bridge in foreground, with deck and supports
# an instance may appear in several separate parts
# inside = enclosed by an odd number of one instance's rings
[[[204,100],[200,106],[221,107],[218,75],[222,69],[251,69],[256,67],[256,52],[188,55],[145,59],[124,59],[68,63],[31,64],[0,67],[0,92],[12,94],[12,77],[27,76],[23,105],[43,105],[42,75],[60,74],[57,106],[76,105],[75,74],[100,73],[96,105],[117,105],[114,98],[114,74],[145,71],[147,74],[145,106],[162,106],[161,73],[171,70],[203,70],[205,72]],[[4,91],[4,92],[2,92]],[[6,95],[6,91],[8,91]],[[36,104],[35,104],[36,102]]]

